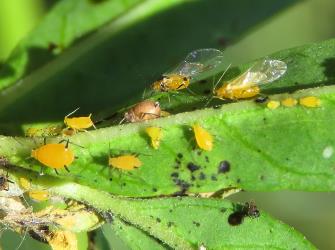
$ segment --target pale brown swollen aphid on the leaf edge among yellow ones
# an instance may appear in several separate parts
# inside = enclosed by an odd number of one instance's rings
[[[125,114],[123,120],[127,122],[141,122],[156,119],[161,116],[159,102],[144,100],[130,108]],[[122,121],[123,121],[122,120]]]

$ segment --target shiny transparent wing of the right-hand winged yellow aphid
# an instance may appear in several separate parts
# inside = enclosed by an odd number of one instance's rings
[[[283,61],[264,59],[232,80],[231,87],[247,87],[273,82],[285,74],[287,65]]]

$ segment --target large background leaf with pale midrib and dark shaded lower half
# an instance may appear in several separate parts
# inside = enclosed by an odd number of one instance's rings
[[[231,42],[294,2],[61,1],[3,66],[0,116],[50,121],[78,106],[89,113],[120,106],[189,51]],[[71,46],[57,55],[50,42]]]

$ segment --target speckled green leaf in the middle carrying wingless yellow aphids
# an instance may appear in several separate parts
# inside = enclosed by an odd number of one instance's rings
[[[335,87],[271,98],[280,100],[287,96],[316,96],[321,107],[297,105],[270,110],[264,104],[241,101],[220,109],[78,133],[71,141],[84,148],[70,146],[78,157],[69,166],[71,172],[63,170],[60,175],[52,169],[45,172],[132,197],[215,192],[232,187],[249,191],[334,191],[335,157],[324,156],[324,151],[335,145],[332,132]],[[196,148],[191,130],[194,123],[214,136],[212,151]],[[144,132],[147,126],[163,128],[159,150],[150,146]],[[40,171],[41,165],[36,160],[27,159],[31,150],[39,145],[37,142],[36,138],[2,137],[0,155],[12,164]],[[41,145],[42,140],[39,143]],[[109,146],[113,153],[122,154],[122,150],[138,153],[143,166],[132,171],[110,171]],[[230,169],[219,173],[219,164],[224,160],[229,162]],[[199,169],[192,170],[190,164]]]

